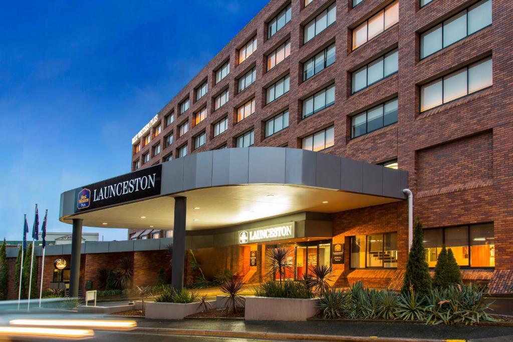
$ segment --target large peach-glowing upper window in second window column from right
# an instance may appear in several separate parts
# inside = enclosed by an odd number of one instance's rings
[[[399,22],[399,1],[394,1],[365,22],[353,29],[352,49],[370,41]]]

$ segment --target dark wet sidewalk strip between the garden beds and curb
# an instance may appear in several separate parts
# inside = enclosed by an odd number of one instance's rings
[[[426,326],[411,323],[368,323],[347,321],[244,321],[231,319],[185,319],[181,321],[165,321],[152,319],[136,319],[137,327],[159,329],[187,329],[240,332],[238,337],[249,337],[253,332],[338,335],[357,337],[395,337],[421,340],[513,340],[513,328],[495,326]],[[171,332],[171,331],[170,331]],[[204,333],[203,333],[204,334]],[[208,335],[208,332],[207,332]]]

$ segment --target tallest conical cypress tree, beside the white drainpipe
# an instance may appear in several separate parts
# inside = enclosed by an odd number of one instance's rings
[[[404,274],[401,291],[407,292],[411,286],[413,291],[421,296],[428,294],[431,290],[431,277],[429,276],[423,240],[422,223],[417,216],[413,224],[413,243],[408,254],[408,263],[406,264],[406,273]]]

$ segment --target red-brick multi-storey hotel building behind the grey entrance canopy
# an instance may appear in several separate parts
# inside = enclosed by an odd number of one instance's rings
[[[445,245],[465,281],[513,292],[512,9],[503,0],[271,0],[133,138],[131,171],[196,152],[248,147],[343,157],[342,171],[339,161],[321,173],[318,166],[318,187],[323,175],[348,177],[345,158],[396,168],[407,172],[405,188],[424,225],[429,266]],[[260,160],[266,163],[272,166],[272,160]],[[376,170],[384,196],[388,171]],[[286,169],[286,177],[293,171]],[[370,171],[361,172],[365,179]],[[179,176],[185,184],[186,175]],[[338,185],[350,189],[340,180]],[[196,209],[192,202],[189,212]],[[223,194],[204,201],[198,212],[219,206],[214,202],[222,205]],[[265,219],[252,219],[249,211],[251,226],[223,223],[214,237],[195,243],[206,230],[191,219],[187,248],[207,273],[231,269],[250,283],[265,276],[266,250],[282,246],[291,251],[290,278],[326,264],[336,286],[363,280],[400,288],[408,254],[407,200],[342,207],[323,209],[319,202],[283,216],[270,210]],[[242,205],[233,210],[231,215],[246,215]],[[247,229],[281,229],[288,222],[296,232],[319,233],[250,243],[261,233]],[[169,237],[169,227],[163,222],[132,229],[129,238]],[[217,244],[215,232],[243,235],[238,243]]]

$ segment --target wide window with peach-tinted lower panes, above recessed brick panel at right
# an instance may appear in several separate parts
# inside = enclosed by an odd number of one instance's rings
[[[440,77],[420,88],[420,110],[443,105],[492,85],[491,57]]]

